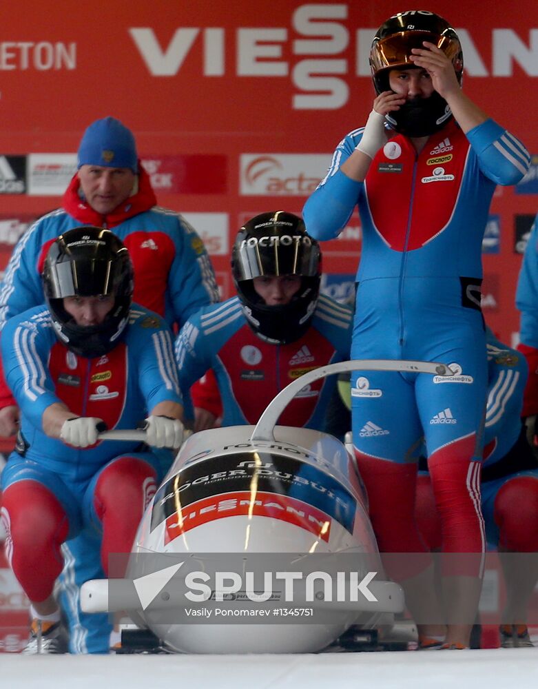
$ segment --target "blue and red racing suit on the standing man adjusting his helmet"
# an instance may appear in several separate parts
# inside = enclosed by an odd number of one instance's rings
[[[304,206],[307,231],[318,240],[337,236],[359,208],[363,241],[351,358],[439,361],[456,373],[446,379],[353,373],[353,443],[374,528],[382,551],[423,550],[410,502],[416,479],[410,464],[424,435],[436,498],[444,501],[444,550],[480,552],[479,429],[487,384],[482,236],[495,185],[517,183],[530,158],[492,120],[467,134],[451,120],[418,154],[411,139],[392,136],[361,183],[340,166],[362,132],[340,142]],[[477,466],[469,466],[471,459]],[[390,470],[393,482],[381,477],[388,467],[380,461],[400,465]],[[436,486],[447,479],[453,489],[440,488],[438,495]],[[387,504],[399,501],[401,512],[391,515]]]

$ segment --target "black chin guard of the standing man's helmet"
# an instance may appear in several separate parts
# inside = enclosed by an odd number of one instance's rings
[[[412,98],[389,112],[386,119],[399,134],[405,136],[429,136],[444,127],[452,116],[446,101],[434,91],[428,98]]]

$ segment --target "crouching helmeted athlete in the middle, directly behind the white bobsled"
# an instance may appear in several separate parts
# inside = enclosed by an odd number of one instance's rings
[[[279,211],[251,218],[232,251],[238,296],[200,309],[180,331],[183,394],[213,369],[223,426],[256,424],[287,384],[349,358],[351,309],[319,296],[320,261],[318,243],[298,216]],[[335,383],[330,376],[304,387],[280,423],[324,430]]]

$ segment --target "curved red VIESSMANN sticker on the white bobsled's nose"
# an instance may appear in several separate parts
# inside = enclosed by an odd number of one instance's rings
[[[296,500],[289,495],[277,495],[257,491],[253,500],[249,491],[237,491],[226,495],[213,495],[199,500],[167,517],[165,528],[165,545],[174,538],[186,533],[200,524],[207,524],[223,517],[254,515],[282,520],[329,542],[331,535],[331,517],[321,510]]]

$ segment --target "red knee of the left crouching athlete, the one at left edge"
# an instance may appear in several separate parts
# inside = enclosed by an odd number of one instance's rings
[[[14,575],[31,601],[52,594],[63,568],[61,544],[69,524],[59,500],[37,481],[18,481],[2,495],[6,555]]]

